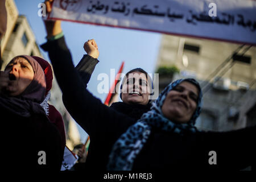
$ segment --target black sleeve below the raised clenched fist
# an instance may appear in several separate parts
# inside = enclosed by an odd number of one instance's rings
[[[84,55],[79,64],[76,65],[76,69],[86,87],[98,62],[99,61],[92,56]]]

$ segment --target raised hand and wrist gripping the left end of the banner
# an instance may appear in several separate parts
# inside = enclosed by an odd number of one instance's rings
[[[52,11],[52,2],[53,0],[46,0],[44,3],[46,4],[46,12],[51,13]],[[46,26],[47,37],[55,36],[60,34],[61,30],[61,20],[44,20],[44,24]]]

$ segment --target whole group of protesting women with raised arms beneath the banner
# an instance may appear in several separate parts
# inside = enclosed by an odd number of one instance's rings
[[[1,38],[6,30],[6,11],[5,1],[0,2]],[[48,12],[51,2],[46,1]],[[122,102],[106,106],[87,89],[99,63],[96,41],[85,42],[87,54],[75,67],[60,20],[46,20],[44,24],[47,42],[41,47],[48,52],[64,105],[90,136],[88,155],[82,145],[75,147],[79,160],[72,170],[254,169],[256,126],[228,132],[195,127],[203,97],[196,80],[171,82],[153,101],[150,94],[154,83],[135,65],[123,78]],[[2,127],[10,129],[4,147],[13,148],[15,143],[20,156],[18,160],[17,151],[10,151],[9,158],[4,159],[6,167],[18,161],[26,170],[60,170],[65,130],[61,114],[48,104],[51,65],[40,57],[19,55],[0,73],[0,113],[5,118]],[[46,152],[45,164],[39,162],[40,151]],[[209,164],[210,151],[217,153],[216,165]]]

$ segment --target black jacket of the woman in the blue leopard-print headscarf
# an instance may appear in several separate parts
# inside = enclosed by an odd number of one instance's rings
[[[72,63],[64,38],[43,45],[52,61],[65,106],[90,135],[89,169],[104,170],[114,142],[136,120],[109,108],[85,88]],[[198,132],[184,136],[152,130],[133,169],[242,169],[255,162],[256,127],[224,133]],[[209,164],[216,151],[217,164]]]

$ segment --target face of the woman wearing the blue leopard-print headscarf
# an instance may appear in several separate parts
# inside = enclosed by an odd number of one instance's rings
[[[197,107],[199,90],[188,81],[175,86],[166,96],[162,106],[163,115],[171,121],[187,123]]]

